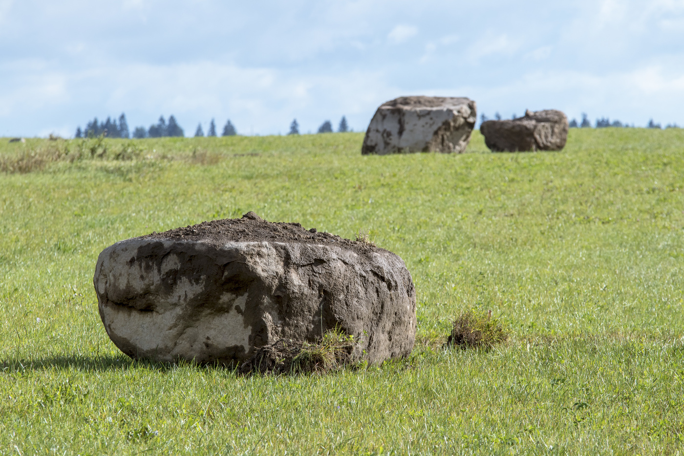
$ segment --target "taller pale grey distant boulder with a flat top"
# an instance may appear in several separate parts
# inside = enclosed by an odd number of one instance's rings
[[[399,97],[376,111],[361,153],[462,153],[477,120],[475,101],[453,97]]]

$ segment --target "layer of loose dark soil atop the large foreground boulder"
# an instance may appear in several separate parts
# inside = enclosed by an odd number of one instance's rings
[[[223,246],[228,242],[292,242],[297,244],[337,245],[356,253],[384,251],[363,240],[349,240],[315,228],[305,229],[299,223],[268,222],[254,212],[242,218],[211,220],[197,225],[187,225],[140,236],[143,239],[195,240],[213,246]]]

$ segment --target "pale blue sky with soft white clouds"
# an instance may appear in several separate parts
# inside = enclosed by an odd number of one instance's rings
[[[0,0],[0,136],[364,131],[404,95],[684,125],[684,0]]]

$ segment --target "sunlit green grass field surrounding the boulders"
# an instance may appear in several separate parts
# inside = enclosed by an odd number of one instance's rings
[[[493,154],[476,133],[462,155],[361,156],[362,140],[1,140],[6,169],[33,171],[0,173],[0,454],[684,453],[684,130],[572,129],[560,153]],[[238,377],[122,355],[98,253],[249,210],[369,229],[400,255],[411,357]],[[466,309],[510,340],[441,349]]]

